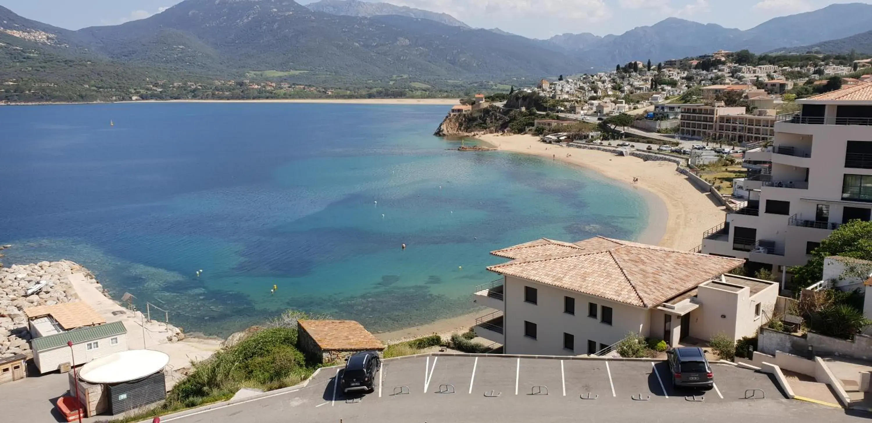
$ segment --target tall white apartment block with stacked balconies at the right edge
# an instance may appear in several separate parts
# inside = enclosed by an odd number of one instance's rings
[[[771,147],[746,151],[770,171],[743,181],[746,205],[703,235],[702,252],[780,272],[804,265],[823,238],[872,213],[872,83],[797,100]]]

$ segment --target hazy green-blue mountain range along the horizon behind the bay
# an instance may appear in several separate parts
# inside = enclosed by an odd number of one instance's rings
[[[562,34],[548,40],[472,29],[444,13],[356,0],[321,0],[308,7],[292,0],[185,0],[145,19],[76,31],[0,7],[0,77],[63,78],[65,70],[84,77],[108,69],[133,80],[271,71],[320,86],[404,79],[532,82],[609,70],[630,60],[656,63],[719,49],[806,46],[869,28],[872,5],[864,3],[778,17],[750,30],[671,17],[621,35]],[[841,44],[852,42],[845,40]]]

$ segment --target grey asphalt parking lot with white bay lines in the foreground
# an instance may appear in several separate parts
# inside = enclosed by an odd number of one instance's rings
[[[341,367],[325,367],[306,387],[235,405],[233,413],[215,410],[173,420],[224,423],[246,412],[256,414],[257,421],[343,423],[614,421],[639,416],[698,421],[704,415],[705,420],[731,423],[744,417],[855,419],[841,410],[787,399],[766,373],[712,367],[715,387],[702,391],[674,389],[668,366],[657,360],[448,355],[385,359],[372,393],[342,393],[334,384]]]

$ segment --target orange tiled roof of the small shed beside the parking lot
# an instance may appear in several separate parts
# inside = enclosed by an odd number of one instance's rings
[[[354,320],[297,320],[322,350],[383,350],[385,345]]]

